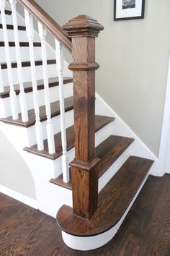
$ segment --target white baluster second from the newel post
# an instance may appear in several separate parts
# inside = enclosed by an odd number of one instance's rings
[[[47,115],[47,135],[48,135],[48,151],[50,154],[55,153],[55,142],[54,142],[54,132],[53,124],[51,121],[51,109],[50,109],[50,94],[48,86],[48,65],[47,65],[47,54],[46,54],[46,30],[40,22],[38,22],[38,30],[41,39],[41,51],[42,51],[42,69],[43,69],[43,79],[44,79],[44,89],[45,89],[45,109]]]

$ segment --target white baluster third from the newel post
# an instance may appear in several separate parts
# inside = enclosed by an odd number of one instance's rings
[[[38,95],[37,95],[37,79],[35,72],[35,54],[34,54],[34,26],[33,26],[33,17],[32,15],[24,9],[24,17],[25,24],[27,30],[27,37],[29,40],[29,48],[30,48],[30,62],[31,62],[31,74],[32,74],[32,90],[33,90],[33,98],[34,98],[34,107],[35,107],[35,132],[37,137],[37,149],[43,150],[43,136],[42,136],[42,124],[40,122],[40,109],[38,103]]]

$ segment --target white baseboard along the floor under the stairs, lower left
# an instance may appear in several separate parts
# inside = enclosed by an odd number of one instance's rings
[[[18,200],[19,202],[23,202],[25,205],[37,209],[37,200],[27,197],[26,195],[22,195],[19,192],[16,192],[2,185],[0,185],[0,192],[14,198],[15,200]]]

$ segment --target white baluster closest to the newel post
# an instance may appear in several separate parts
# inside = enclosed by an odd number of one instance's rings
[[[69,168],[68,168],[68,153],[66,140],[66,125],[65,125],[65,106],[63,95],[63,46],[55,39],[56,61],[59,79],[59,94],[60,94],[60,110],[61,110],[61,140],[62,140],[62,167],[63,167],[63,182],[69,182]]]

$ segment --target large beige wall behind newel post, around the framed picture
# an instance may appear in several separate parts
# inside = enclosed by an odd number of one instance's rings
[[[63,25],[88,14],[104,25],[97,39],[97,93],[158,155],[168,60],[170,1],[146,0],[144,20],[113,21],[114,0],[36,0]]]

